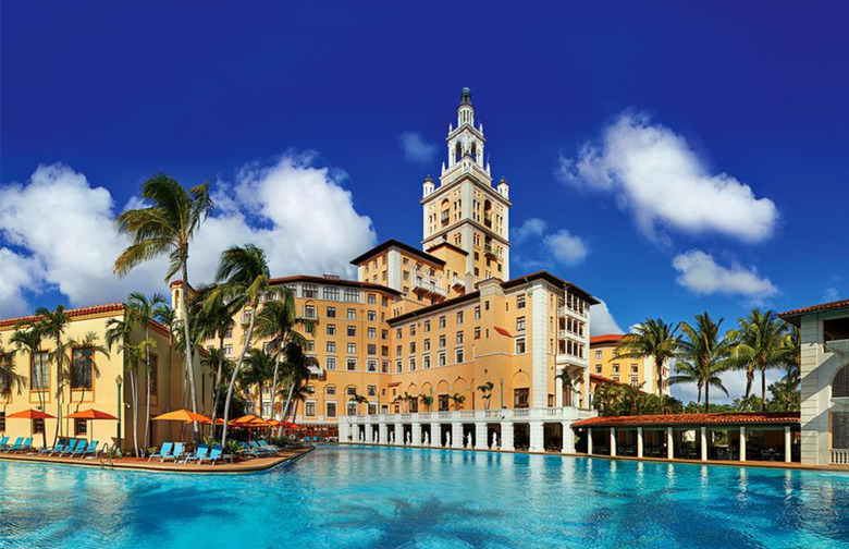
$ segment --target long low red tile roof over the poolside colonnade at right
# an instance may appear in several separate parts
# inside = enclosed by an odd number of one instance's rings
[[[799,412],[666,414],[590,417],[573,427],[673,426],[673,425],[799,425]]]

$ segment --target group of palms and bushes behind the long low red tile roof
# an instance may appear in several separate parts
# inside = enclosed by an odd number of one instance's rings
[[[693,383],[698,400],[689,410],[714,410],[711,406],[711,389],[728,395],[721,377],[726,371],[740,371],[746,376],[746,392],[733,406],[740,411],[799,410],[800,396],[800,347],[799,330],[785,324],[773,310],[752,309],[737,320],[737,326],[722,332],[723,319],[714,320],[709,313],[696,315],[694,321],[677,326],[663,319],[645,319],[626,334],[617,345],[616,354],[623,358],[649,357],[656,365],[657,387],[664,383]],[[674,371],[664,380],[664,366],[673,363]],[[772,399],[767,399],[766,371],[784,368],[785,376],[768,387]],[[760,373],[761,395],[753,394],[755,376]],[[635,388],[604,388],[594,399],[596,407],[608,413],[632,411],[633,413],[668,413],[667,410],[685,407],[674,399],[648,399]],[[633,394],[631,394],[633,393]],[[702,399],[703,396],[703,399]],[[642,400],[641,400],[642,399]],[[668,399],[668,398],[667,398]],[[651,410],[649,412],[640,411]],[[659,412],[660,410],[660,412]]]

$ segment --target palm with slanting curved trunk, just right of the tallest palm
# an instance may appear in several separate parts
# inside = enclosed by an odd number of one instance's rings
[[[262,248],[254,244],[245,246],[233,246],[221,254],[221,261],[216,274],[218,284],[212,293],[221,293],[225,302],[232,302],[241,310],[249,306],[254,314],[250,315],[247,331],[244,334],[242,352],[236,361],[236,368],[230,378],[227,395],[224,400],[224,426],[221,435],[221,446],[226,443],[227,422],[230,419],[230,401],[233,399],[233,389],[245,362],[245,355],[254,339],[254,325],[256,324],[256,310],[259,304],[273,297],[276,290],[270,285],[271,274],[269,273],[268,259]]]

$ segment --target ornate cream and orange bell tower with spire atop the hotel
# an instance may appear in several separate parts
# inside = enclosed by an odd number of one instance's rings
[[[508,280],[509,186],[503,178],[496,187],[492,185],[483,156],[483,124],[475,121],[467,87],[460,91],[457,125],[448,124],[445,142],[448,158],[442,163],[439,185],[430,176],[422,184],[422,247],[427,252],[448,243],[465,252],[467,291],[488,278]]]

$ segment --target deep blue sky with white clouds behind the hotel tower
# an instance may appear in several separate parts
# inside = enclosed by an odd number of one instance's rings
[[[220,191],[201,279],[238,237],[281,274],[418,244],[463,86],[531,220],[515,274],[623,329],[849,296],[846,4],[247,5],[3,2],[0,317],[160,286],[104,267],[159,170]]]

